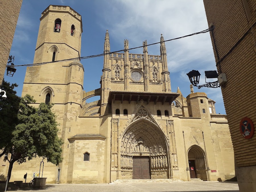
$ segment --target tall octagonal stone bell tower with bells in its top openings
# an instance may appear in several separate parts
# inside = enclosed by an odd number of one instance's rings
[[[40,18],[34,66],[27,67],[22,90],[22,96],[34,96],[36,106],[41,102],[55,104],[53,112],[57,115],[59,137],[64,144],[63,162],[59,168],[53,165],[49,165],[48,170],[46,168],[53,181],[68,180],[68,138],[74,134],[75,122],[81,112],[84,79],[84,68],[79,59],[56,61],[80,57],[81,34],[80,14],[68,6],[49,5]]]

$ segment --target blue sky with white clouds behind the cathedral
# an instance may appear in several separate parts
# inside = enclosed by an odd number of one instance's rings
[[[15,65],[33,63],[39,19],[49,5],[67,5],[82,16],[82,57],[103,53],[106,29],[110,51],[116,51],[124,48],[124,39],[133,48],[142,46],[144,40],[148,44],[159,42],[161,33],[168,40],[208,28],[202,0],[23,0],[10,53],[15,56]],[[159,46],[148,46],[148,54],[159,55]],[[184,97],[190,93],[186,73],[198,70],[202,74],[200,84],[204,84],[204,71],[216,70],[209,32],[166,42],[166,51],[172,92],[179,86]],[[143,49],[133,49],[130,53],[143,53]],[[81,63],[85,70],[84,90],[100,88],[103,57],[82,59]],[[15,75],[5,76],[5,80],[16,82],[17,94],[21,96],[26,67],[16,69]],[[216,101],[216,113],[226,114],[220,88],[194,88],[194,91],[205,92]]]

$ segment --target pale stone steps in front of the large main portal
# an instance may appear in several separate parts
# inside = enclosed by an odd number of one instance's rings
[[[172,183],[172,182],[183,182],[179,179],[117,179],[109,184],[116,183]]]

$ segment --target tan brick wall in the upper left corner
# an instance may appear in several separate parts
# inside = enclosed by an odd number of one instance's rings
[[[9,50],[12,47],[13,36],[20,14],[22,0],[1,0],[0,2],[0,85],[2,84]]]

